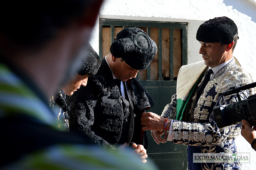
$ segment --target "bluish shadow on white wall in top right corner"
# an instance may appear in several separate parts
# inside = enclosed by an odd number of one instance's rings
[[[256,22],[256,3],[252,4],[248,0],[240,0],[240,1],[230,1],[230,0],[223,0],[223,3],[226,6],[232,6],[232,9],[236,9],[238,12],[241,12],[249,17],[253,22]],[[243,21],[241,21],[243,22]]]

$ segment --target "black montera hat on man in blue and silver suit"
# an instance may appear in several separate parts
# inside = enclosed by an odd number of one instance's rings
[[[197,29],[196,40],[205,43],[218,43],[227,45],[232,43],[237,27],[228,17],[218,17],[205,21]]]

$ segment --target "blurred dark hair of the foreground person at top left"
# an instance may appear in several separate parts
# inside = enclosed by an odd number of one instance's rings
[[[37,47],[54,38],[57,30],[72,19],[82,16],[92,1],[3,1],[0,3],[0,31],[18,45]]]

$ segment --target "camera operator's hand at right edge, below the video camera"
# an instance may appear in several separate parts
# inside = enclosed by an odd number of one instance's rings
[[[256,139],[256,126],[251,128],[249,122],[244,119],[242,120],[242,123],[241,135],[247,140],[247,142],[252,144],[252,141]]]

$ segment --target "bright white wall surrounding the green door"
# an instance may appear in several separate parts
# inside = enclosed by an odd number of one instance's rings
[[[188,23],[188,64],[201,61],[196,41],[197,28],[208,19],[227,16],[238,27],[239,40],[234,56],[256,81],[256,0],[105,0],[100,18],[130,19]],[[99,25],[96,24],[91,40],[99,51]],[[251,163],[243,169],[256,169],[256,152],[240,135],[236,139],[240,152],[250,152]]]

